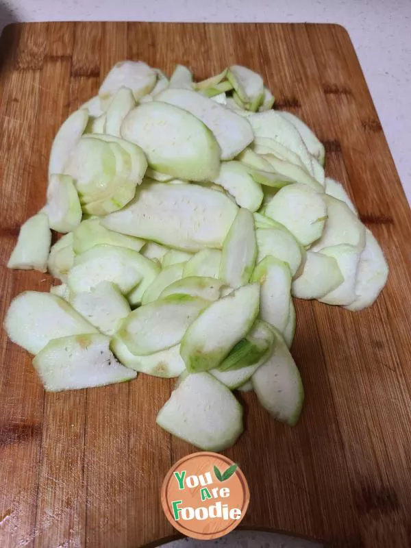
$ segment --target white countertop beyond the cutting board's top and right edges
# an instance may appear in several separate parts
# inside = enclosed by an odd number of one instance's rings
[[[356,48],[411,202],[411,0],[0,0],[12,21],[340,23]]]

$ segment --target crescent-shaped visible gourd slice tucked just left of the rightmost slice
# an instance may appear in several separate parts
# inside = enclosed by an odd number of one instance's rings
[[[338,262],[338,267],[344,281],[336,289],[319,299],[322,303],[347,306],[356,299],[356,276],[360,251],[353,245],[340,244],[321,249],[321,253],[327,257],[333,257]]]

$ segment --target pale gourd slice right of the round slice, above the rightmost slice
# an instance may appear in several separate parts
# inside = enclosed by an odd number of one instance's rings
[[[332,196],[323,195],[327,206],[327,221],[321,238],[314,243],[312,251],[324,247],[350,244],[362,251],[365,245],[365,227],[347,204]]]

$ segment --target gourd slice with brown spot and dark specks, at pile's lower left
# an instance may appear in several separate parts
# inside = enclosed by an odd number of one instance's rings
[[[101,334],[51,340],[33,360],[48,392],[105,386],[134,379],[137,374],[119,363]]]

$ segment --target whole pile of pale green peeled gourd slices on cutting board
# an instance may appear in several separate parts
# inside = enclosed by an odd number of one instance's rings
[[[5,318],[46,390],[179,377],[157,422],[214,451],[242,432],[232,390],[297,423],[292,297],[360,310],[388,268],[321,142],[273,104],[243,66],[195,83],[125,61],[60,127],[8,266],[61,284]]]

